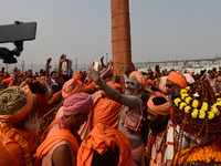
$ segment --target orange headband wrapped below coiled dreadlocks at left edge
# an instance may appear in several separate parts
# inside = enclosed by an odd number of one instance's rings
[[[0,122],[13,124],[24,118],[24,116],[27,116],[27,114],[32,110],[33,96],[29,92],[25,92],[25,94],[27,94],[27,103],[24,104],[24,106],[11,115],[0,115]]]

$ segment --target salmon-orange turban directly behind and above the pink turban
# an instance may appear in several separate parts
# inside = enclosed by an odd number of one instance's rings
[[[62,87],[62,96],[63,98],[67,98],[70,95],[74,93],[82,92],[82,82],[76,79],[70,79],[64,83]]]

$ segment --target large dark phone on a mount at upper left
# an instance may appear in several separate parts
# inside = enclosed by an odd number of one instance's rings
[[[34,40],[36,22],[0,25],[0,43]]]

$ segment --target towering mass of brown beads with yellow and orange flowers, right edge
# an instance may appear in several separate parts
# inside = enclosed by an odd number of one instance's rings
[[[180,126],[173,165],[219,164],[221,152],[213,143],[221,136],[221,95],[213,92],[208,80],[198,80],[182,89],[173,103],[172,120]],[[191,145],[181,151],[183,135]]]

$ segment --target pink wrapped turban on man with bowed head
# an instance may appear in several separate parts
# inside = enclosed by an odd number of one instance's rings
[[[93,100],[87,93],[74,93],[64,100],[63,112],[64,115],[75,115],[77,113],[90,113],[93,106]]]

